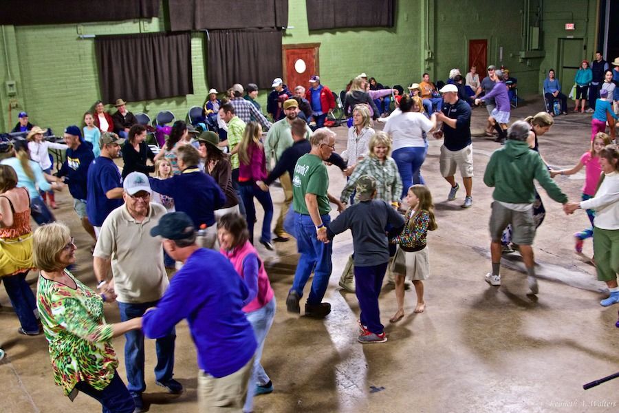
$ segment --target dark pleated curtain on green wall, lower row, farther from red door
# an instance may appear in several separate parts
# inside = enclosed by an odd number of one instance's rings
[[[95,52],[105,102],[193,94],[188,32],[97,36]]]

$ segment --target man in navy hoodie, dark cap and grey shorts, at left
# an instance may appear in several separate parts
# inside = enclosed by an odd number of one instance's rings
[[[80,128],[75,125],[65,129],[65,144],[69,149],[67,149],[67,159],[56,176],[69,185],[69,193],[73,197],[73,209],[80,217],[86,232],[94,242],[97,242],[94,228],[86,213],[88,167],[90,162],[94,160],[94,153],[90,142],[83,141],[81,136]]]

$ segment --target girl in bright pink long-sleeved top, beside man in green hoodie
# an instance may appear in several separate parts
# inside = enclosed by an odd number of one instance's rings
[[[583,201],[594,198],[598,189],[598,182],[602,175],[602,167],[600,165],[600,151],[606,145],[610,145],[611,138],[604,132],[598,132],[594,140],[591,141],[591,150],[583,153],[580,156],[580,161],[572,169],[561,169],[560,171],[550,171],[550,176],[554,178],[557,175],[574,175],[585,167],[585,186],[583,187]],[[596,217],[593,209],[587,209],[587,216],[591,222],[591,227],[574,234],[576,238],[576,252],[583,252],[583,242],[590,237],[593,237],[593,220]]]

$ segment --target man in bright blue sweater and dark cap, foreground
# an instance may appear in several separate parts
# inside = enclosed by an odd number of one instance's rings
[[[243,313],[246,284],[224,255],[196,244],[186,213],[167,213],[151,235],[162,237],[166,252],[184,266],[157,306],[144,314],[144,335],[164,337],[187,319],[197,350],[199,411],[241,412],[257,348]]]

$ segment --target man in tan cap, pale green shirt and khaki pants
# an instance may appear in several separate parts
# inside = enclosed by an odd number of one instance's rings
[[[298,115],[298,103],[294,99],[288,99],[284,102],[284,114],[285,118],[278,120],[271,126],[264,142],[264,152],[266,156],[266,165],[269,170],[272,169],[271,160],[277,163],[281,158],[281,154],[285,149],[292,146],[292,121],[296,119]],[[312,134],[312,129],[305,125],[305,138],[309,139]],[[283,229],[283,221],[292,202],[292,181],[290,180],[290,174],[285,172],[279,177],[281,182],[281,188],[284,191],[284,203],[279,211],[279,218],[275,224],[274,241],[283,242],[290,239],[290,235],[285,233]]]

